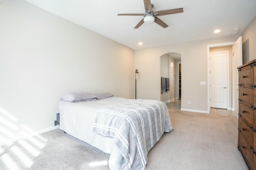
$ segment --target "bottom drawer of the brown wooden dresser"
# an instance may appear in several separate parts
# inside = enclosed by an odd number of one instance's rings
[[[244,135],[240,132],[238,132],[238,147],[242,152],[248,167],[250,168],[250,170],[252,170],[254,164],[254,154],[250,149],[250,147],[252,146],[248,143],[248,141],[246,141]]]

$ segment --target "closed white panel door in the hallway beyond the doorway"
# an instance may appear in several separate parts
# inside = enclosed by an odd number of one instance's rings
[[[227,109],[228,52],[210,53],[210,106]]]

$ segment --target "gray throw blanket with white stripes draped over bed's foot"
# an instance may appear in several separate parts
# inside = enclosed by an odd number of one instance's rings
[[[102,107],[93,125],[93,132],[113,137],[123,157],[119,167],[124,170],[145,167],[148,151],[172,129],[167,106],[158,100],[131,100]]]

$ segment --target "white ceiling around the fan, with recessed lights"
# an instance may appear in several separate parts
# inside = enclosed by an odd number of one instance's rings
[[[183,8],[184,12],[159,16],[167,28],[143,23],[134,29],[143,16],[117,14],[144,14],[143,0],[26,1],[134,50],[218,38],[234,28],[239,28],[239,35],[256,16],[256,0],[151,0],[154,11]],[[221,32],[213,33],[215,29]]]

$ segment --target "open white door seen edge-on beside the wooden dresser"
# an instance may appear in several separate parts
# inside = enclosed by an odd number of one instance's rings
[[[234,44],[234,104],[235,104],[235,117],[238,119],[238,111],[239,111],[239,103],[238,103],[238,70],[236,69],[238,66],[242,65],[242,37],[239,37]]]

